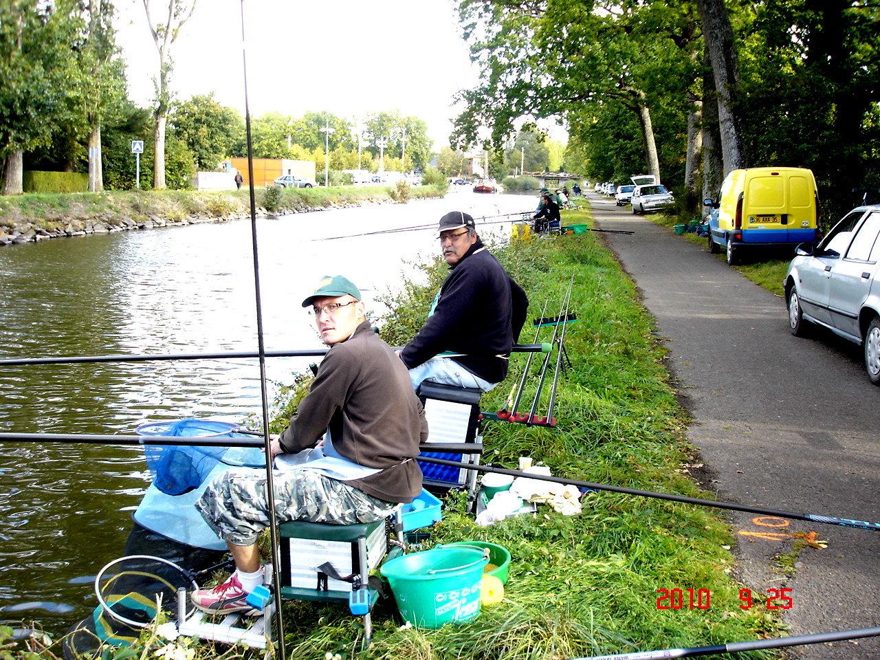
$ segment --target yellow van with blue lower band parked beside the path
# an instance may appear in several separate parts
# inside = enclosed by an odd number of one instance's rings
[[[796,246],[821,238],[813,172],[803,167],[751,167],[725,177],[709,213],[710,253],[737,263],[753,246]]]

